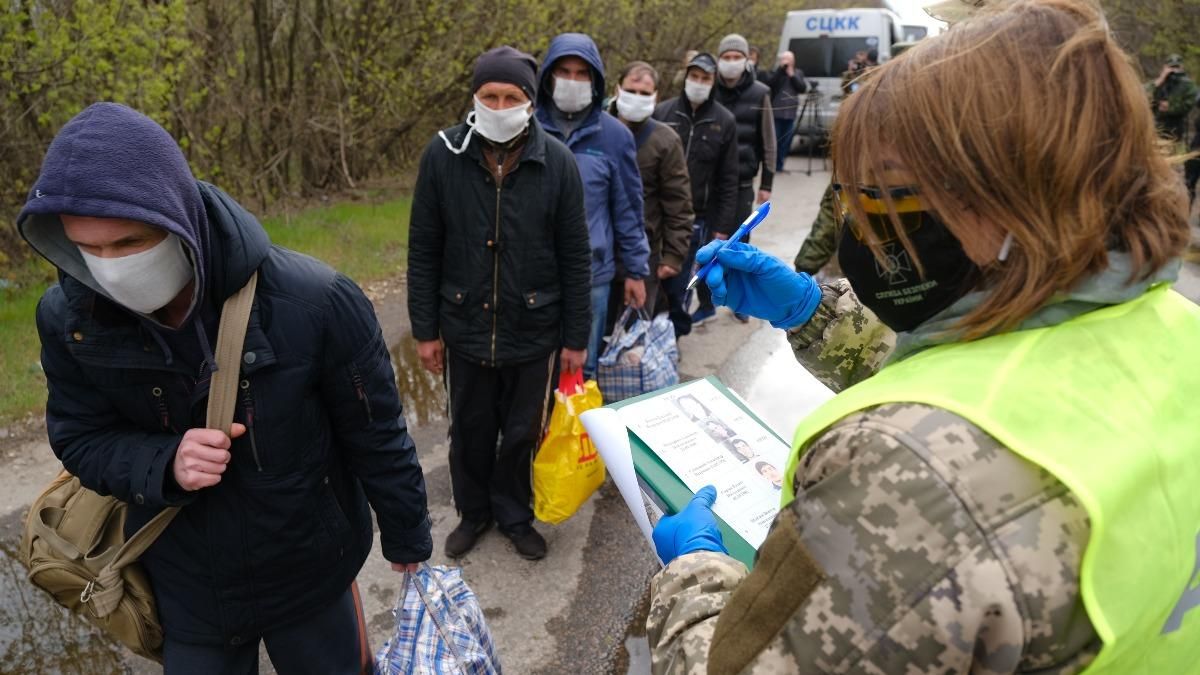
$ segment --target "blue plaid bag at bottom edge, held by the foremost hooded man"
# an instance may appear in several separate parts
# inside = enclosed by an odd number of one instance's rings
[[[404,574],[404,589],[392,610],[396,633],[376,655],[376,675],[500,673],[484,610],[461,568],[422,562]]]

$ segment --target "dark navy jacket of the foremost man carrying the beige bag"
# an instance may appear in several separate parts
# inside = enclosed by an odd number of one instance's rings
[[[170,477],[181,435],[205,426],[208,382],[193,386],[151,328],[65,275],[38,305],[37,328],[64,466],[131,504],[128,533],[184,504],[143,556],[167,634],[236,645],[346,592],[371,550],[367,496],[385,557],[426,560],[432,542],[371,303],[320,262],[272,247],[223,192],[200,193],[214,305],[259,270],[236,411],[250,430],[220,484],[184,492]]]

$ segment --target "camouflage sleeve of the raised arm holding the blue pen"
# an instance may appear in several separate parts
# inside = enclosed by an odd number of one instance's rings
[[[850,281],[821,287],[821,304],[804,325],[787,331],[796,360],[822,384],[841,392],[866,380],[895,347],[896,336],[858,300]]]

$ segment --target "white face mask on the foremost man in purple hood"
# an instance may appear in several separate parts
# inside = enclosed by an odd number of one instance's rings
[[[120,258],[98,258],[79,250],[88,270],[118,304],[152,313],[175,299],[192,280],[192,264],[175,234],[145,251]]]

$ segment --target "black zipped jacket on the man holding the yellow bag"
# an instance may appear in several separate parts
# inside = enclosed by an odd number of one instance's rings
[[[466,125],[446,130],[455,148]],[[473,133],[456,155],[434,136],[421,157],[408,237],[413,336],[482,365],[584,350],[592,249],[575,156],[536,119],[500,186]]]

